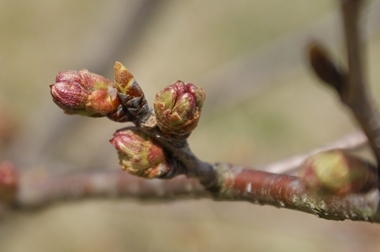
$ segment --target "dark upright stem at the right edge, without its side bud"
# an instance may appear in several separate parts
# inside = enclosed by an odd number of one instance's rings
[[[380,164],[380,115],[368,93],[364,74],[364,43],[360,27],[360,12],[363,0],[341,0],[345,40],[348,58],[348,76],[342,92],[343,103],[354,116],[368,137],[369,144]]]

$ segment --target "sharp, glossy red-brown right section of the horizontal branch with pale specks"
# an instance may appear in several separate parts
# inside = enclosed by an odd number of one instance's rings
[[[362,220],[380,222],[377,189],[366,194],[346,196],[317,195],[306,189],[295,176],[272,174],[234,167],[216,166],[220,178],[219,200],[244,200],[314,214],[329,220]]]

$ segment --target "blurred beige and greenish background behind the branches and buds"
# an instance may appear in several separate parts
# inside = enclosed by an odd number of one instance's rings
[[[122,62],[152,102],[180,79],[207,94],[190,145],[206,161],[260,168],[357,126],[308,69],[305,46],[343,60],[337,1],[0,1],[0,159],[24,172],[119,169],[123,127],[64,115],[61,70],[113,79]],[[368,1],[368,72],[380,89],[380,1]],[[91,200],[0,221],[0,251],[380,251],[380,226],[239,202]]]

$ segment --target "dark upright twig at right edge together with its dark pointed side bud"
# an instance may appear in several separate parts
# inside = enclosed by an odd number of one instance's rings
[[[353,113],[380,164],[380,113],[368,91],[364,64],[361,7],[364,0],[341,0],[348,69],[336,64],[318,42],[309,47],[309,60],[317,76],[334,88]]]

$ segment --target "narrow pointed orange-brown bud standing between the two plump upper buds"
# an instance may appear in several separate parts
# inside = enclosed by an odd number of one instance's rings
[[[151,109],[140,85],[120,62],[115,63],[114,75],[121,103],[131,115],[138,119],[139,123],[144,123],[151,114]]]

